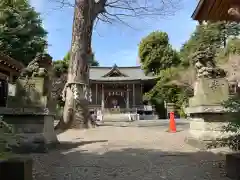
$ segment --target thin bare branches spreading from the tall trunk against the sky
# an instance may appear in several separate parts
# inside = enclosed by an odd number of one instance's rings
[[[58,9],[74,7],[71,0],[52,0],[59,3]],[[75,1],[75,0],[73,0]],[[181,0],[91,0],[94,3],[93,20],[113,24],[122,23],[130,28],[125,18],[166,17],[174,15],[179,9]],[[95,25],[96,27],[96,25]]]

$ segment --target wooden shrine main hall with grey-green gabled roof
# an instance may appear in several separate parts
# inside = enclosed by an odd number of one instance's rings
[[[90,108],[104,110],[142,109],[143,95],[155,84],[156,77],[146,76],[140,66],[90,67]]]

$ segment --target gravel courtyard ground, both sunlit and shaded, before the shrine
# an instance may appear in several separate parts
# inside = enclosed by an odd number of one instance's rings
[[[186,131],[99,127],[69,130],[61,145],[33,155],[35,180],[228,180],[223,156],[184,143]]]

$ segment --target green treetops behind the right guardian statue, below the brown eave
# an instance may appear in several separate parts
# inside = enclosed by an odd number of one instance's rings
[[[192,55],[206,48],[210,48],[214,56],[219,53],[223,56],[223,48],[226,46],[227,38],[237,37],[239,34],[240,25],[238,23],[208,22],[207,24],[197,25],[190,39],[180,49],[182,65],[191,65]]]

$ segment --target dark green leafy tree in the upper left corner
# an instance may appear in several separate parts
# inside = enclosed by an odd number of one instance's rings
[[[0,52],[27,65],[47,46],[47,32],[27,0],[0,2]]]

